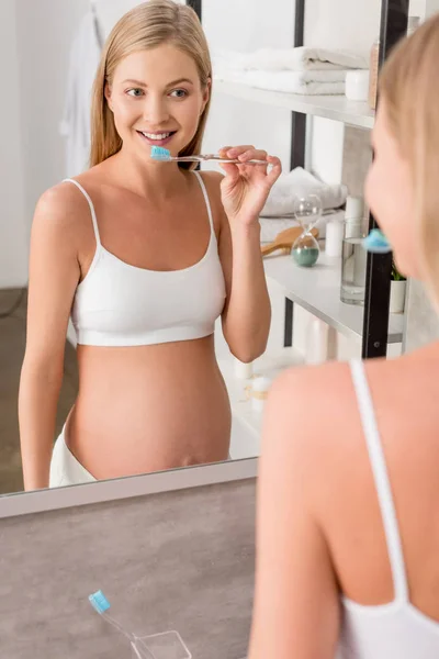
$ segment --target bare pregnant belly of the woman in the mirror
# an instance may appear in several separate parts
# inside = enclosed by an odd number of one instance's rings
[[[230,409],[212,337],[78,356],[67,444],[97,479],[227,459]]]

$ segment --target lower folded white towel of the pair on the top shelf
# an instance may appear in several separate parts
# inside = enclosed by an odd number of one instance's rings
[[[344,94],[346,71],[227,71],[215,74],[215,80],[228,80],[285,93],[307,96]]]

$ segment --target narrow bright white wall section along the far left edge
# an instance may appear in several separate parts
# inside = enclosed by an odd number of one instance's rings
[[[0,2],[0,288],[26,281],[26,230],[14,0]]]

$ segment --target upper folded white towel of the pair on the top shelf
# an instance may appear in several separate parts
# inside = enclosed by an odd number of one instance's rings
[[[348,51],[326,51],[324,48],[261,48],[254,53],[219,51],[214,55],[215,63],[222,63],[237,71],[306,71],[367,69],[369,58]]]

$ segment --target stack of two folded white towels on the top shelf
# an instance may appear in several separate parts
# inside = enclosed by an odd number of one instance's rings
[[[344,94],[347,71],[368,68],[364,55],[306,46],[213,56],[215,80],[307,96]]]

